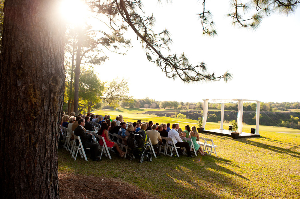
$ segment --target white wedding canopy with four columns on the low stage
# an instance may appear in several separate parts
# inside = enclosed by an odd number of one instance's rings
[[[228,102],[238,101],[238,118],[237,118],[237,124],[238,124],[238,133],[241,134],[243,130],[243,104],[244,101],[256,101],[256,130],[255,134],[259,135],[259,109],[260,109],[260,101],[257,100],[249,100],[249,99],[204,99],[203,100],[203,122],[202,127],[205,130],[205,124],[207,120],[207,112],[208,112],[208,101],[213,103],[222,103],[221,108],[221,126],[220,130],[223,129],[223,122],[224,122],[224,104]]]

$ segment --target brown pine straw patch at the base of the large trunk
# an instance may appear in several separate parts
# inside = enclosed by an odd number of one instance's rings
[[[133,185],[107,177],[58,172],[59,198],[154,198]]]

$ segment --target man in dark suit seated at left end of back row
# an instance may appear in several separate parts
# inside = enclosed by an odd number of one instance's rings
[[[91,134],[88,133],[88,135],[87,135],[85,133],[85,131],[83,130],[84,125],[85,125],[85,120],[80,119],[78,121],[78,126],[74,130],[74,135],[80,137],[81,143],[84,148],[84,152],[86,153],[86,150],[85,150],[86,148],[90,148],[91,159],[93,161],[100,161],[100,159],[98,158],[99,146],[98,146],[98,144],[91,143],[90,141],[88,141],[88,138],[89,138],[89,136],[91,136]]]

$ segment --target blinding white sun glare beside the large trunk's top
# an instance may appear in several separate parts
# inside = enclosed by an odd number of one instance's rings
[[[59,5],[60,13],[68,24],[81,25],[87,20],[88,5],[81,0],[63,0]]]

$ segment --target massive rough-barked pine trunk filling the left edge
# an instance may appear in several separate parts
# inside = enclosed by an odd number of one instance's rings
[[[0,198],[59,198],[64,25],[50,0],[5,0]]]

